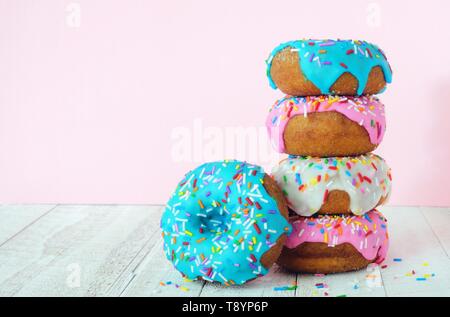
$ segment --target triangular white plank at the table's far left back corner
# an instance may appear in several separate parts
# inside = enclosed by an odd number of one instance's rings
[[[56,205],[0,205],[0,245],[48,213]]]

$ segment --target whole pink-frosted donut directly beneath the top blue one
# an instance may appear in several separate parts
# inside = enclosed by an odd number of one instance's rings
[[[276,151],[303,156],[354,156],[371,152],[386,130],[384,105],[373,96],[285,96],[266,120]]]

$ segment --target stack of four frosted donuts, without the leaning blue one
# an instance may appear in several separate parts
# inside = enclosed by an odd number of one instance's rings
[[[372,154],[386,129],[375,94],[392,71],[376,45],[298,40],[267,60],[273,88],[286,94],[270,109],[274,148],[289,154],[272,171],[290,212],[292,233],[278,263],[289,270],[336,273],[384,260],[390,169]]]

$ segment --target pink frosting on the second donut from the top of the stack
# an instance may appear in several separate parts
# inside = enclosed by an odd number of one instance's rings
[[[286,96],[277,100],[267,117],[266,126],[275,149],[285,152],[284,129],[290,118],[311,112],[337,111],[363,126],[372,144],[380,144],[386,129],[384,105],[373,96]]]

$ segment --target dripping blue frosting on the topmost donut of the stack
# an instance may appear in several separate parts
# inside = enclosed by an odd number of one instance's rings
[[[277,46],[266,61],[270,86],[277,88],[270,75],[273,57],[286,47],[298,50],[304,76],[322,94],[331,94],[330,88],[344,73],[358,80],[357,94],[362,95],[369,73],[380,66],[387,83],[392,81],[392,70],[383,51],[374,44],[354,40],[298,40]]]

